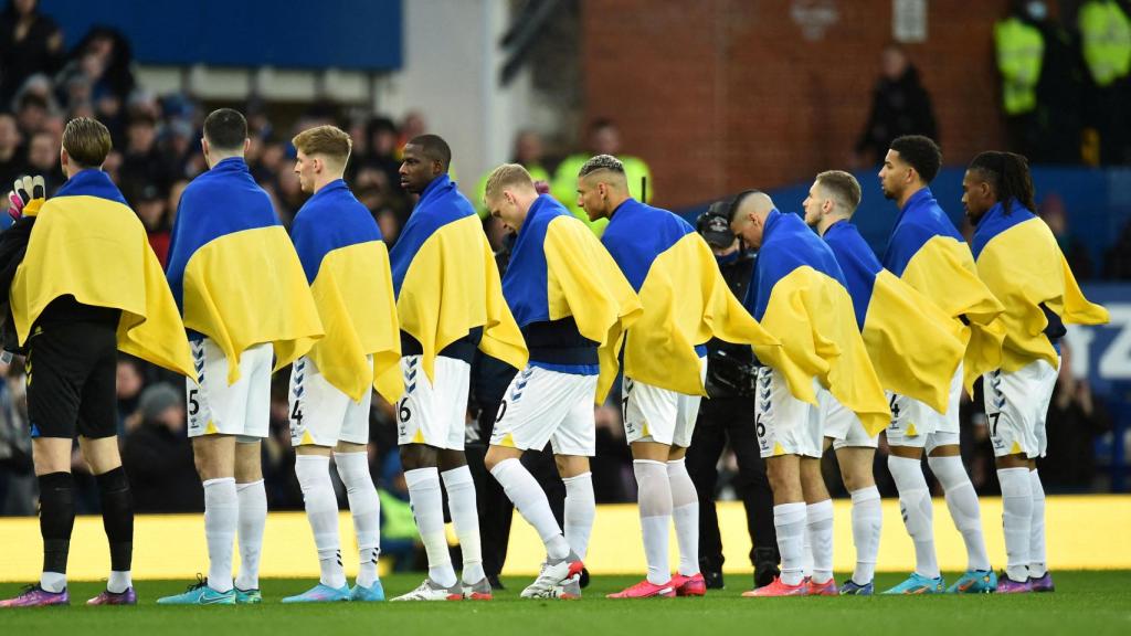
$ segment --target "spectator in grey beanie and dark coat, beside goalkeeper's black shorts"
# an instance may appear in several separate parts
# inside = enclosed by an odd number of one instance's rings
[[[122,465],[138,513],[204,509],[205,493],[184,433],[181,395],[172,385],[152,385],[141,392],[138,411],[129,418]]]

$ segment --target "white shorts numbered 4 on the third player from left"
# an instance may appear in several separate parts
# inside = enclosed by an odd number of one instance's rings
[[[370,369],[373,356],[368,355]],[[369,444],[369,407],[373,392],[361,401],[326,380],[314,361],[303,355],[291,368],[291,445],[337,446],[339,441]]]

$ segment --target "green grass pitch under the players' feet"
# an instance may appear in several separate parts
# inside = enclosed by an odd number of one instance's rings
[[[312,605],[283,605],[278,600],[302,592],[313,582],[265,579],[261,605],[206,608],[154,603],[158,596],[183,591],[185,582],[179,581],[139,582],[141,600],[135,608],[86,608],[81,603],[95,595],[102,584],[74,583],[70,590],[74,605],[0,610],[0,633],[33,636],[1131,634],[1131,571],[1056,571],[1054,576],[1056,592],[1052,594],[743,599],[740,594],[749,577],[731,575],[726,590],[710,591],[703,599],[642,601],[604,599],[605,593],[634,583],[631,577],[594,577],[580,601],[523,600],[518,592],[528,582],[508,578],[507,590],[497,593],[491,602]],[[385,579],[385,588],[389,595],[400,594],[421,579],[421,575],[395,575]],[[899,579],[899,575],[880,575],[877,583],[886,587]],[[18,591],[18,585],[0,584],[3,596]]]

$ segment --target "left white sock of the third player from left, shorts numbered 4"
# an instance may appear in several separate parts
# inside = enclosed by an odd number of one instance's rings
[[[346,574],[342,568],[338,499],[330,481],[330,458],[322,455],[299,455],[294,458],[294,473],[302,487],[310,530],[314,533],[318,567],[321,570],[319,583],[337,590],[346,584]],[[242,569],[240,574],[243,575]]]

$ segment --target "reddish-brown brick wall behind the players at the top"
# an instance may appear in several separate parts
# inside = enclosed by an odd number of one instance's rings
[[[791,10],[832,6],[820,40]],[[907,45],[947,164],[1001,147],[993,22],[1005,0],[929,0]],[[847,167],[891,40],[892,0],[584,0],[587,120],[610,117],[679,207]]]

